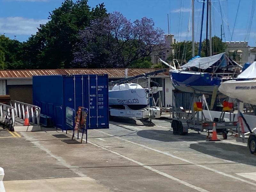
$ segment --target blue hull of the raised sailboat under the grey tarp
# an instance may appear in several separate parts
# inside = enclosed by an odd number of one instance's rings
[[[172,84],[182,92],[212,94],[220,79],[212,78],[209,73],[172,70],[169,72]]]

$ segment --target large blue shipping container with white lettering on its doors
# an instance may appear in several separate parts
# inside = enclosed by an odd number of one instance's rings
[[[109,128],[108,75],[33,76],[34,104],[66,129],[66,107],[88,108],[88,129]]]

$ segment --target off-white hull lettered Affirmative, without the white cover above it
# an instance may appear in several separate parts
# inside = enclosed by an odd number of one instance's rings
[[[221,83],[219,91],[228,97],[256,105],[256,79],[226,81]]]

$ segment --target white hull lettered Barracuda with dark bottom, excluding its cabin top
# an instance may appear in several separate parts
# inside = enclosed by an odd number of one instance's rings
[[[108,91],[108,104],[112,108],[139,110],[148,106],[148,89],[127,89]]]

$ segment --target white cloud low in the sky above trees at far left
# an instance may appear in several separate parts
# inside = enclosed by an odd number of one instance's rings
[[[36,34],[40,24],[45,24],[48,20],[27,19],[23,17],[0,18],[0,33],[10,33],[15,35]]]

